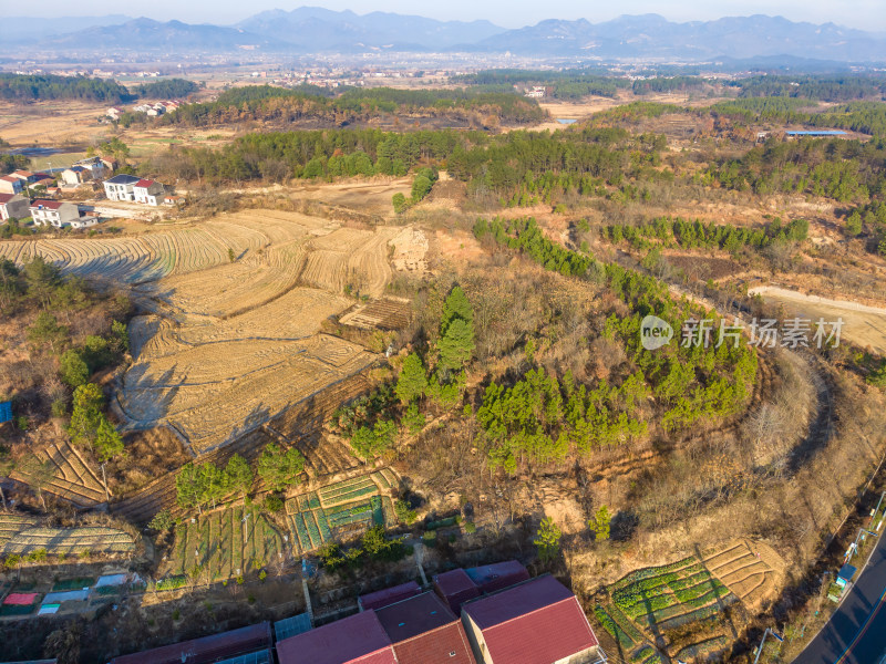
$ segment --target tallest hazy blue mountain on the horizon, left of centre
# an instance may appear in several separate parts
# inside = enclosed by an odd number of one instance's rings
[[[292,42],[311,52],[390,49],[411,51],[449,50],[506,32],[488,21],[436,21],[423,17],[373,11],[331,11],[300,7],[292,11],[262,11],[237,24],[255,34]]]

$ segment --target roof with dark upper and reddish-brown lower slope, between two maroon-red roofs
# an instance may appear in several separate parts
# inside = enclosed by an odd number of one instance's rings
[[[462,623],[433,592],[375,611],[398,664],[476,664]]]

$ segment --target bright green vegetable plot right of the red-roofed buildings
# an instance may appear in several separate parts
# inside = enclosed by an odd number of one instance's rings
[[[725,625],[718,616],[724,619],[727,609],[740,604],[740,598],[696,556],[636,570],[609,585],[607,593],[595,608],[600,624],[629,661],[650,664],[660,661],[657,640],[667,644],[670,656],[678,651],[707,655],[722,650]]]

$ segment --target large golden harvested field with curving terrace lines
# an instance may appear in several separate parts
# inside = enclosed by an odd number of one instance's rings
[[[123,238],[0,242],[0,256],[130,284],[144,315],[119,414],[130,430],[168,425],[203,454],[370,366],[373,353],[321,323],[356,295],[380,298],[394,270],[423,270],[426,248],[411,228],[247,210]]]

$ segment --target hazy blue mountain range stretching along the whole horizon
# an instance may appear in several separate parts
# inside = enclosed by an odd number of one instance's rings
[[[34,42],[33,25],[45,24]],[[30,25],[25,30],[25,25]],[[18,28],[17,28],[18,27]],[[22,35],[27,35],[27,40]],[[673,22],[658,14],[591,23],[550,19],[507,30],[488,21],[437,21],[387,12],[357,14],[301,7],[257,13],[236,25],[192,24],[127,17],[11,18],[0,22],[0,44],[47,51],[235,52],[326,54],[379,51],[512,53],[576,60],[791,58],[886,62],[886,35],[782,17],[731,17]],[[0,45],[2,48],[2,45]]]

